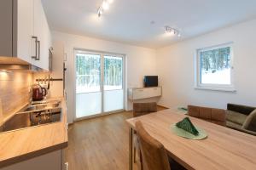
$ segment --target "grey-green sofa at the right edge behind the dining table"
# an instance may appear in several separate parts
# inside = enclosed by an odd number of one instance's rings
[[[228,104],[226,126],[256,136],[256,108],[246,105]]]

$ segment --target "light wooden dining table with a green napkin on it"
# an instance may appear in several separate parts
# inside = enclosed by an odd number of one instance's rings
[[[129,169],[133,169],[133,133],[135,122],[143,122],[147,132],[160,141],[168,156],[187,169],[256,169],[256,137],[212,122],[190,117],[191,122],[207,132],[207,139],[185,139],[172,133],[172,124],[186,115],[173,110],[154,112],[126,120],[129,124]]]

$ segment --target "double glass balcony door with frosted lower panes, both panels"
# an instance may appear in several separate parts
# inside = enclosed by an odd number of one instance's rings
[[[124,110],[124,56],[75,51],[76,120]]]

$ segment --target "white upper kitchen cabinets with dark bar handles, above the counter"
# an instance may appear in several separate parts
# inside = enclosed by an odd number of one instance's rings
[[[1,0],[0,21],[0,56],[49,70],[51,37],[41,0]]]

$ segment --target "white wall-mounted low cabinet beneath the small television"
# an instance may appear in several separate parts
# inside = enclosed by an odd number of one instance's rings
[[[162,95],[162,88],[129,88],[128,89],[128,98],[131,100],[134,99],[148,99],[154,97],[160,97]]]

